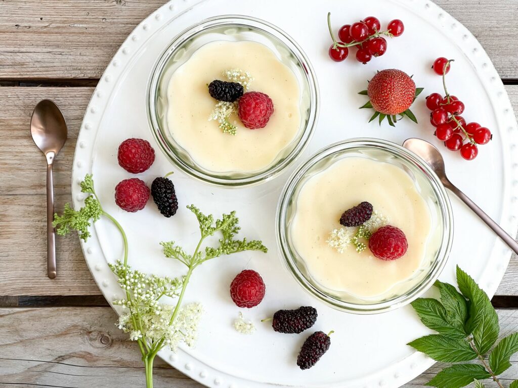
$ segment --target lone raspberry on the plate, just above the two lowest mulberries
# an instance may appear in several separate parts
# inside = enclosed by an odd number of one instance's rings
[[[266,287],[257,272],[244,270],[230,285],[230,296],[237,307],[254,307],[261,303]]]

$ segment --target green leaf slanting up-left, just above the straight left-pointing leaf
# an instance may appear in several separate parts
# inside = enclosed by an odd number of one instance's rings
[[[428,329],[446,335],[450,338],[463,339],[466,333],[448,321],[445,308],[437,299],[419,298],[411,303],[421,322]]]

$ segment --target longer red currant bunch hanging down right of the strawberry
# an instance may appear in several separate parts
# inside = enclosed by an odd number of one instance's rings
[[[466,160],[477,157],[478,144],[487,144],[492,138],[491,131],[479,123],[466,124],[461,116],[464,112],[464,103],[448,93],[446,74],[450,71],[453,59],[437,58],[434,62],[434,71],[442,76],[444,94],[432,93],[426,97],[426,107],[431,111],[430,122],[436,127],[435,136],[444,142],[451,151],[461,151]]]

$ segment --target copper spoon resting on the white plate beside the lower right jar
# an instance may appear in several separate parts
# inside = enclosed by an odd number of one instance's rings
[[[444,160],[442,159],[441,153],[437,148],[427,141],[421,139],[408,139],[403,143],[405,148],[412,151],[414,154],[419,155],[428,165],[435,171],[439,179],[441,180],[444,187],[450,189],[459,199],[464,201],[466,205],[478,215],[482,221],[484,221],[488,227],[505,242],[509,248],[511,248],[516,254],[518,254],[518,243],[506,233],[493,219],[488,216],[484,211],[478,207],[473,201],[471,201],[465,193],[456,188],[446,176],[444,169]]]

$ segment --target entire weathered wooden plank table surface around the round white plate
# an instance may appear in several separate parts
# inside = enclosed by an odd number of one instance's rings
[[[345,0],[344,0],[345,1]],[[164,0],[0,0],[0,387],[145,386],[140,353],[114,321],[78,238],[57,239],[59,277],[46,277],[45,160],[29,135],[51,98],[68,122],[54,169],[56,209],[70,201],[76,139],[98,79],[132,29]],[[480,40],[518,110],[516,0],[438,0]],[[518,330],[518,260],[493,304],[502,335]],[[518,377],[518,356],[503,376]],[[201,387],[161,360],[155,387]],[[423,386],[440,365],[407,386]]]

